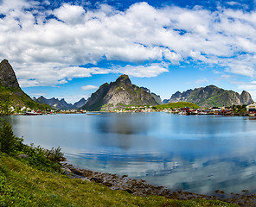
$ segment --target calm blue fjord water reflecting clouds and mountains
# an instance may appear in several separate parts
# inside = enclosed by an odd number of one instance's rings
[[[74,166],[199,193],[256,192],[253,117],[104,113],[4,119],[25,143],[61,146]]]

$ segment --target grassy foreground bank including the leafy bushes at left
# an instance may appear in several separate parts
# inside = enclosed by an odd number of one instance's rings
[[[237,206],[221,201],[136,197],[61,174],[60,148],[24,145],[9,124],[0,129],[0,206]]]

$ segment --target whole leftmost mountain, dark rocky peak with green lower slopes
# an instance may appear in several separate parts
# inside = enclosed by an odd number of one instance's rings
[[[10,106],[40,110],[50,108],[48,105],[36,103],[22,91],[9,61],[3,60],[0,63],[0,107]]]

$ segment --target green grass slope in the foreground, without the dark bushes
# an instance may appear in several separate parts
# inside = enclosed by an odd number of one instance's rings
[[[0,206],[237,206],[204,199],[136,197],[93,182],[42,172],[6,154],[1,154],[0,163]]]

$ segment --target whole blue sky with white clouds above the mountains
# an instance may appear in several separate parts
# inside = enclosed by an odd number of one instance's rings
[[[256,1],[0,0],[0,58],[30,97],[74,103],[125,73],[170,98],[206,85],[256,100]]]

